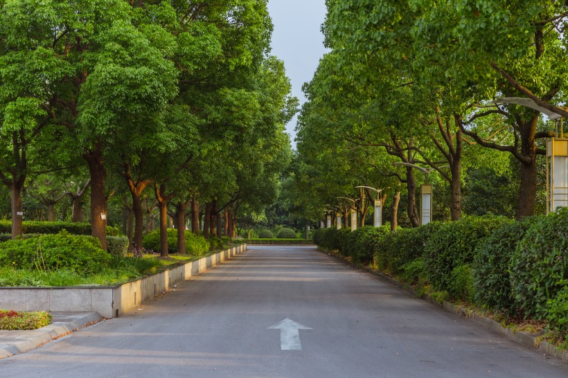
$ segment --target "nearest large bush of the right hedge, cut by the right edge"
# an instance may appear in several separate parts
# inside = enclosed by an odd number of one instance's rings
[[[543,319],[547,301],[568,280],[568,208],[535,217],[511,259],[511,287],[515,305],[524,316]]]

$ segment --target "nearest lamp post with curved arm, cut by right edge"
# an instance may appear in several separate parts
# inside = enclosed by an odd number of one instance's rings
[[[559,207],[568,206],[568,138],[564,138],[562,116],[540,107],[530,98],[505,97],[493,101],[495,105],[515,104],[546,114],[556,121],[556,137],[547,139],[547,214]],[[560,120],[560,138],[558,138]]]

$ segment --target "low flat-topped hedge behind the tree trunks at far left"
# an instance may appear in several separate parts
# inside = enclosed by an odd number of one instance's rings
[[[85,222],[22,222],[24,234],[27,233],[59,233],[66,230],[74,235],[91,235],[91,224]],[[6,219],[0,220],[0,233],[11,234],[12,222]],[[121,231],[116,227],[107,226],[107,236],[121,235]]]

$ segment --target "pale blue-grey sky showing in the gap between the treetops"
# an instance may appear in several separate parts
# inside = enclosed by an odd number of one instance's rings
[[[292,83],[292,95],[305,102],[304,82],[312,80],[319,60],[326,53],[321,24],[326,17],[325,0],[269,0],[268,11],[274,24],[272,55],[284,61],[286,74]],[[286,125],[292,148],[297,117]]]

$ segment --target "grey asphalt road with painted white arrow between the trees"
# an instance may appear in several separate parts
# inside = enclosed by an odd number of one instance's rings
[[[253,246],[141,309],[0,360],[0,377],[566,378],[568,366],[312,247]]]

